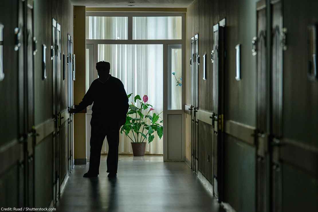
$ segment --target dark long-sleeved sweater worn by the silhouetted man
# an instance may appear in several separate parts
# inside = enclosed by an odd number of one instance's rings
[[[92,103],[92,120],[105,124],[125,123],[129,105],[127,93],[120,79],[111,75],[105,83],[95,79],[74,113],[82,111]]]

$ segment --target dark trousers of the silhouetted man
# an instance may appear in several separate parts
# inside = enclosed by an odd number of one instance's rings
[[[103,141],[107,138],[108,155],[107,155],[107,172],[117,173],[118,166],[118,145],[119,145],[119,125],[100,123],[91,120],[91,140],[90,140],[90,157],[89,157],[89,173],[99,174],[100,152]]]

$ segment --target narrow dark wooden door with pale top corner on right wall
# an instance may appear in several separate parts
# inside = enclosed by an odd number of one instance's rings
[[[213,193],[219,202],[223,200],[224,179],[224,56],[225,56],[225,19],[213,26],[213,50],[212,50],[212,158],[213,158]]]

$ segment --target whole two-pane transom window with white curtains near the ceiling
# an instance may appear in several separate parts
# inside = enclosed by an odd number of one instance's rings
[[[86,13],[89,40],[181,40],[183,17],[177,14]],[[125,42],[125,41],[122,41]]]

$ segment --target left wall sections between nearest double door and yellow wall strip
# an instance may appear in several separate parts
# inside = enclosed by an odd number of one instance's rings
[[[38,52],[34,57],[34,101],[35,101],[35,126],[39,126],[47,120],[52,119],[53,112],[53,72],[50,46],[52,45],[52,18],[61,25],[61,55],[67,55],[68,52],[68,34],[73,37],[73,5],[69,0],[58,1],[40,1],[34,2],[34,35],[38,40]],[[46,72],[47,78],[43,79],[42,69],[42,44],[47,47],[46,50]],[[66,77],[63,80],[63,58],[61,60],[61,75],[60,75],[60,98],[58,104],[60,111],[68,109],[68,74],[67,65],[65,64]],[[66,118],[66,117],[65,117]],[[62,131],[61,136],[67,132]],[[64,132],[64,133],[63,133]],[[67,147],[66,139],[60,138],[61,147]],[[52,184],[53,181],[53,161],[52,161],[52,135],[39,141],[35,148],[35,206],[47,207],[53,199]],[[55,141],[57,142],[57,141]],[[66,151],[67,152],[67,151]],[[63,149],[60,149],[60,154],[63,154]],[[61,158],[60,164],[67,164],[67,159]],[[60,181],[63,180],[64,174],[60,173]]]

